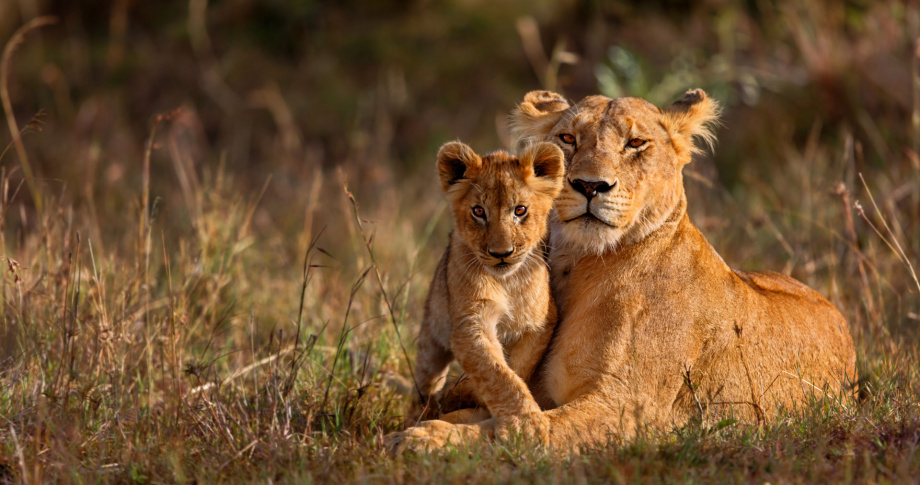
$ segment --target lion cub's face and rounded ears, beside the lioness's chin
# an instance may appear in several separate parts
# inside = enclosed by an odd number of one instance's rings
[[[438,152],[454,231],[474,261],[497,276],[513,273],[543,238],[563,172],[562,150],[552,143],[535,144],[519,157],[500,150],[480,157],[460,142]]]

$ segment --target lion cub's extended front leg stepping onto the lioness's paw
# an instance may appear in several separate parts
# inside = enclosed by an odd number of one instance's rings
[[[505,361],[495,334],[498,316],[489,317],[490,309],[483,310],[455,324],[450,342],[454,356],[476,388],[477,396],[498,421],[499,436],[506,435],[510,426],[545,441],[546,427],[537,424],[543,422],[540,407],[521,376]],[[518,425],[521,421],[534,425],[522,427]]]

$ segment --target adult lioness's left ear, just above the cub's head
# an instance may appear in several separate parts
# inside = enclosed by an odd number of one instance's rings
[[[545,141],[569,102],[550,91],[531,91],[511,113],[512,146],[521,149]]]

